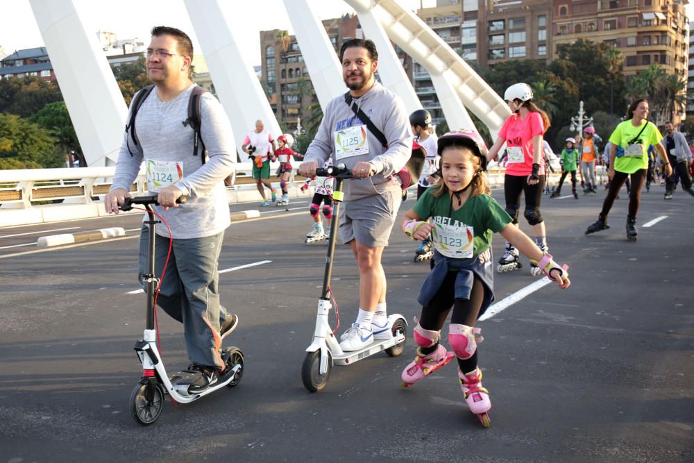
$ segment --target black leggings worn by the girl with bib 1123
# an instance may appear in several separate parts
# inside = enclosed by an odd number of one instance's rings
[[[422,315],[419,319],[419,324],[425,330],[439,331],[443,328],[443,323],[446,322],[448,312],[453,309],[450,315],[450,323],[459,323],[461,325],[475,326],[477,317],[480,316],[482,301],[484,301],[484,285],[479,278],[475,277],[473,289],[469,299],[455,298],[455,277],[457,272],[450,271],[439,288],[436,296],[426,307],[422,308]],[[422,348],[423,353],[432,353],[436,348]],[[458,359],[458,366],[463,373],[469,373],[477,368],[477,351],[472,357],[462,360]]]

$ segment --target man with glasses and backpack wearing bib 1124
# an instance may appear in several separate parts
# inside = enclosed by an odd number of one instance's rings
[[[206,152],[194,155],[195,131],[190,124],[184,124],[195,87],[190,80],[192,59],[193,46],[185,33],[166,26],[152,29],[146,69],[154,87],[137,110],[137,137],[133,135],[133,127],[126,131],[104,206],[106,212],[118,213],[118,206],[129,196],[130,185],[144,161],[149,192],[158,194],[159,198],[160,205],[154,210],[168,222],[173,238],[157,303],[184,325],[192,364],[184,380],[178,383],[188,382],[189,390],[201,391],[224,373],[221,339],[238,323],[236,315],[219,304],[217,273],[224,230],[230,225],[223,180],[234,169],[236,149],[221,104],[211,94],[203,93],[200,135]],[[180,196],[187,196],[183,205],[176,203]],[[146,230],[143,224],[139,242],[140,280],[147,271]],[[158,227],[155,238],[158,277],[168,250],[169,232],[166,227]]]

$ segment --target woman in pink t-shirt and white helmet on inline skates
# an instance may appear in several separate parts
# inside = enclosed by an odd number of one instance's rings
[[[506,212],[518,226],[518,211],[521,209],[521,193],[525,192],[527,223],[532,225],[535,242],[543,252],[548,251],[545,238],[545,223],[540,214],[540,200],[545,187],[545,159],[542,154],[542,136],[550,126],[545,112],[532,102],[532,88],[527,83],[516,83],[506,89],[504,99],[513,112],[507,117],[499,131],[496,142],[491,146],[487,158],[496,158],[501,146],[506,144],[507,165],[504,177]],[[541,269],[530,264],[534,276]],[[499,260],[497,270],[512,271],[521,268],[518,249],[506,243],[506,252]]]

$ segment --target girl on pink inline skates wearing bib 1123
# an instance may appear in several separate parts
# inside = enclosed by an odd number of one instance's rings
[[[559,267],[532,239],[511,224],[504,208],[489,196],[486,185],[486,146],[474,131],[459,130],[439,138],[442,182],[421,196],[405,214],[403,231],[413,239],[431,235],[434,243],[432,271],[425,279],[418,302],[414,362],[403,370],[403,386],[413,385],[457,357],[460,386],[471,412],[489,427],[489,392],[482,387],[477,367],[480,328],[475,322],[493,301],[491,235],[505,239],[536,262],[545,274],[565,289],[568,267]],[[430,219],[431,224],[427,222]],[[439,344],[441,328],[452,308],[448,343]]]

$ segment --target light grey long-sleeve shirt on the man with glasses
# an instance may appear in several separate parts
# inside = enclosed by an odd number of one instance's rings
[[[223,184],[223,179],[235,168],[236,145],[231,124],[219,101],[209,93],[203,94],[201,137],[208,151],[208,161],[203,165],[201,150],[193,155],[193,129],[182,124],[188,118],[192,90],[193,85],[166,102],[161,101],[156,89],[147,96],[135,118],[139,144],[135,145],[130,135],[124,135],[111,185],[111,190],[130,190],[143,160],[180,162],[183,177],[175,185],[188,196],[187,203],[167,211],[159,206],[154,208],[169,222],[174,238],[217,235],[231,224]],[[133,155],[128,151],[128,144]],[[162,226],[157,228],[157,234],[169,235]]]

